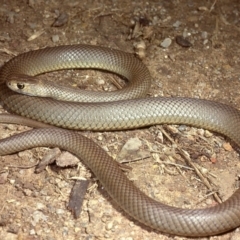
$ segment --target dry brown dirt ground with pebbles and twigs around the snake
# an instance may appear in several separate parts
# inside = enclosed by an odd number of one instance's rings
[[[151,97],[204,98],[240,109],[239,40],[238,0],[0,0],[1,65],[17,54],[47,46],[112,47],[142,58],[153,79]],[[113,75],[93,70],[48,76],[81,88],[114,88]],[[27,129],[1,124],[0,136]],[[124,157],[124,164],[132,168],[128,177],[169,205],[213,206],[214,191],[222,200],[235,191],[239,154],[218,134],[183,125],[83,134],[116,159],[126,143],[137,142],[135,151]],[[212,189],[179,154],[181,150],[202,167]],[[81,163],[65,168],[52,164],[36,174],[31,166],[47,151],[37,148],[1,157],[0,239],[186,239],[154,231],[129,217]],[[66,207],[76,178],[90,179],[78,219]],[[240,233],[236,229],[202,239],[236,240]]]

